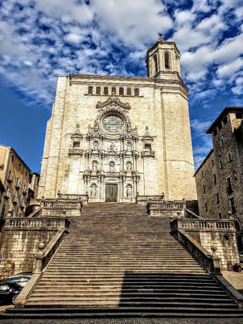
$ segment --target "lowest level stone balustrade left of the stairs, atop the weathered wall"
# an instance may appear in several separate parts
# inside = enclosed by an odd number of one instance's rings
[[[6,217],[6,226],[11,228],[28,227],[28,228],[40,228],[40,227],[54,227],[69,229],[70,221],[66,217],[57,218],[22,218],[22,217]]]

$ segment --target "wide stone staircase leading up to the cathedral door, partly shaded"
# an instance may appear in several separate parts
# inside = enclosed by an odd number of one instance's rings
[[[169,234],[169,217],[149,216],[134,203],[88,203],[70,221],[22,310],[26,316],[243,315]]]

